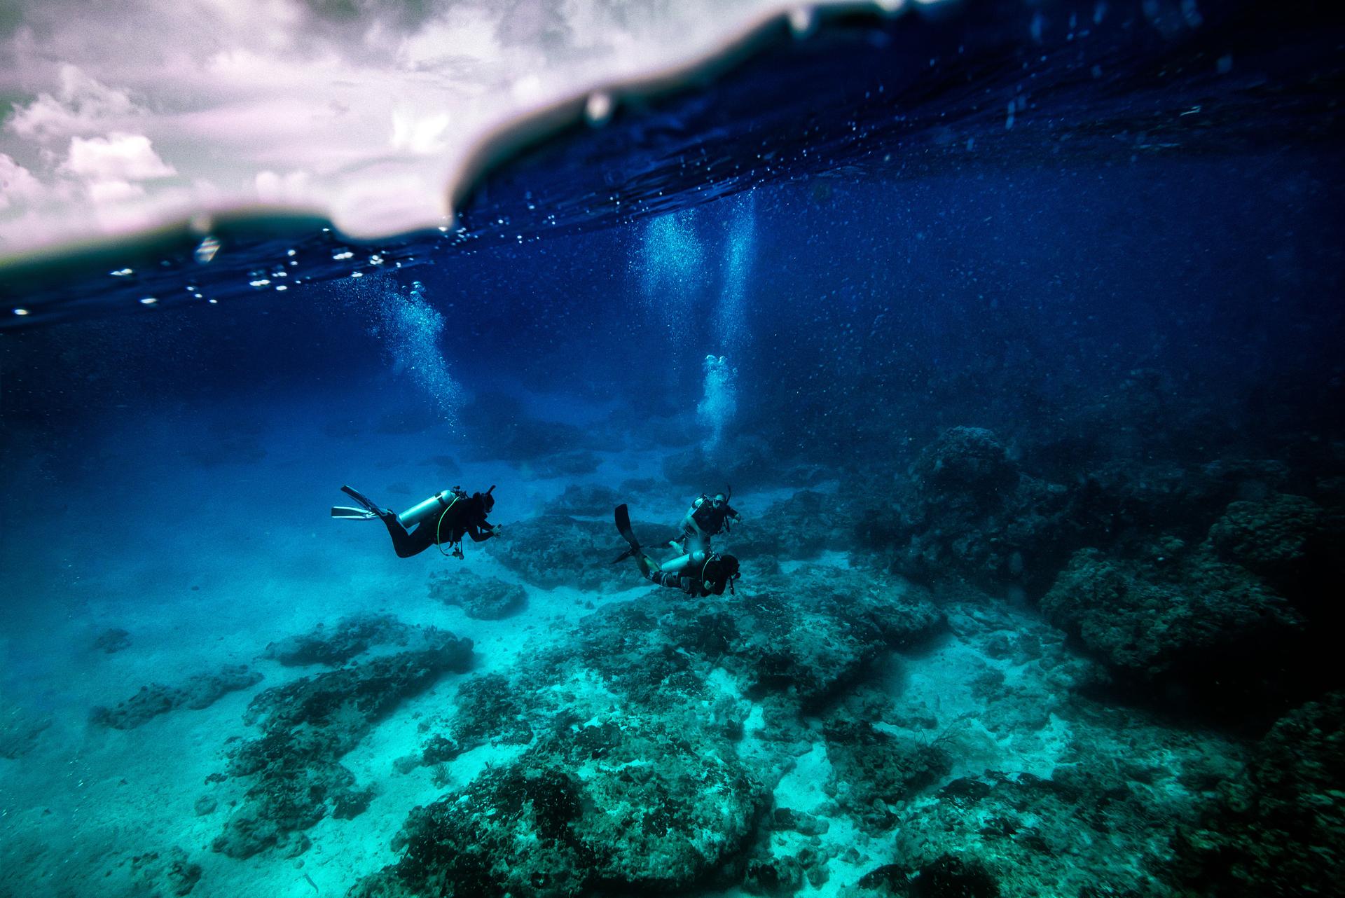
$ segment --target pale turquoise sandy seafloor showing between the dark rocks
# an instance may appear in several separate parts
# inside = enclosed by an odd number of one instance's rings
[[[538,514],[572,483],[616,485],[627,479],[659,479],[662,458],[675,446],[600,453],[599,471],[581,477],[534,479],[526,466],[506,462],[463,462],[460,475],[447,477],[429,461],[456,454],[451,445],[436,445],[440,434],[332,438],[323,433],[323,425],[342,417],[339,402],[309,409],[311,419],[291,409],[258,418],[256,409],[243,417],[237,407],[214,407],[184,411],[174,421],[143,419],[128,410],[121,423],[110,425],[104,438],[82,453],[83,471],[65,472],[63,483],[38,468],[16,479],[27,488],[8,497],[13,503],[9,520],[22,527],[7,534],[4,546],[9,617],[0,641],[4,702],[7,711],[20,708],[28,722],[50,723],[31,750],[0,760],[0,893],[169,894],[164,881],[137,870],[133,859],[147,852],[167,856],[178,847],[200,866],[191,891],[198,898],[344,894],[360,876],[397,859],[391,842],[413,807],[465,786],[488,764],[522,750],[510,745],[476,747],[455,760],[448,780],[438,784],[429,766],[394,773],[395,758],[421,747],[418,723],[444,715],[459,683],[480,672],[508,672],[557,633],[582,628],[594,609],[652,597],[655,590],[642,585],[633,570],[625,591],[601,594],[581,582],[539,589],[471,543],[464,561],[434,551],[398,559],[377,522],[331,520],[327,507],[342,503],[342,483],[393,507],[416,501],[448,481],[468,489],[495,483],[499,503],[492,519],[508,528]],[[249,436],[245,442],[265,446],[264,458],[213,457],[202,464],[183,454],[210,445],[210,434],[239,429]],[[812,489],[835,491],[837,484],[823,481]],[[779,487],[734,496],[746,523],[728,539],[728,548],[736,538],[751,534],[753,516],[792,492]],[[638,516],[663,519],[671,527],[689,499],[668,485],[659,500],[643,495],[633,501],[660,503],[640,507]],[[613,532],[613,550],[619,544]],[[806,565],[826,575],[849,569],[855,558],[827,551]],[[783,558],[781,563],[788,573],[802,562]],[[472,620],[460,608],[429,597],[428,578],[445,567],[522,583],[527,606],[506,620]],[[718,600],[726,608],[749,601],[751,557],[744,557],[744,571],[738,597]],[[1081,714],[1077,703],[1067,702],[1065,680],[1040,661],[987,649],[997,637],[1002,643],[1006,636],[1041,633],[1046,641],[1056,639],[1050,651],[1068,665],[1069,653],[1059,644],[1059,633],[1033,609],[1011,602],[951,602],[942,610],[950,621],[946,632],[916,649],[892,652],[869,678],[870,687],[931,715],[935,733],[955,734],[955,764],[939,777],[940,784],[990,769],[1050,778],[1061,766],[1127,765],[1147,772],[1137,774],[1131,786],[1137,794],[1149,794],[1161,813],[1165,803],[1193,799],[1180,782],[1186,758],[1219,766],[1240,757],[1239,749],[1220,737],[1169,730],[1138,711],[1108,729],[1102,718]],[[375,785],[377,794],[356,817],[328,816],[312,827],[308,851],[297,858],[264,851],[246,859],[211,851],[230,803],[247,784],[207,784],[207,777],[225,769],[237,737],[256,734],[242,719],[249,700],[261,690],[324,669],[286,668],[261,657],[264,649],[317,624],[331,626],[364,612],[386,612],[410,625],[433,625],[471,639],[476,653],[472,674],[443,676],[426,692],[401,703],[344,756],[342,762],[356,781]],[[128,630],[129,647],[116,653],[95,649],[94,640],[109,628]],[[210,707],[179,708],[137,729],[120,731],[90,723],[94,706],[116,704],[148,683],[175,684],[225,664],[246,664],[264,679]],[[1002,674],[1002,679],[998,679],[998,688],[976,688],[987,682],[987,671]],[[737,702],[751,702],[725,671],[707,682]],[[760,741],[761,719],[763,708],[752,703],[745,735],[736,742],[744,760],[779,754],[779,746],[768,750]],[[889,863],[902,850],[902,839],[916,838],[911,833],[917,829],[898,825],[874,835],[838,805],[833,799],[846,784],[838,782],[818,721],[804,718],[802,723],[803,733],[816,738],[806,735],[791,745],[792,761],[771,761],[760,770],[773,776],[765,788],[776,808],[808,812],[829,824],[824,833],[812,838],[824,858],[824,882],[804,881],[799,894],[847,894],[866,872]],[[907,726],[900,719],[870,723],[893,733]],[[206,794],[218,807],[198,816],[195,803]],[[915,813],[921,803],[935,801],[933,790],[925,789],[902,812]],[[1069,820],[1046,823],[1075,825]],[[795,851],[806,840],[788,832],[769,838],[779,854]],[[1127,863],[1126,844],[1118,846],[1110,863]],[[1087,881],[1096,872],[1088,864],[1102,856],[1106,852],[1080,862],[1077,874]],[[1139,868],[1131,871],[1137,881],[1146,875]],[[1038,885],[1040,894],[1077,894],[1081,882],[1061,882],[1059,893],[1052,883]],[[730,889],[724,894],[742,893]]]

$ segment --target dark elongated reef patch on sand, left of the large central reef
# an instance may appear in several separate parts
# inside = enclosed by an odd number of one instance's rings
[[[426,628],[412,648],[266,690],[247,708],[262,734],[231,753],[229,776],[249,777],[242,805],[213,843],[247,858],[266,848],[293,855],[308,847],[303,831],[323,817],[354,817],[373,797],[356,788],[340,758],[397,704],[472,663],[471,640]]]

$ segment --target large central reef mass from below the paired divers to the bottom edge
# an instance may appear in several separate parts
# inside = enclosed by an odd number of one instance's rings
[[[732,604],[730,604],[732,602]],[[525,746],[412,813],[401,858],[352,894],[671,894],[716,876],[802,882],[798,860],[729,860],[769,807],[768,782],[806,745],[799,715],[893,647],[943,626],[916,590],[829,569],[744,587],[737,600],[651,590],[553,635],[511,676],[463,683],[421,764],[486,742]],[[748,738],[753,699],[764,710]],[[409,770],[416,758],[405,760]],[[819,832],[803,813],[781,825]]]

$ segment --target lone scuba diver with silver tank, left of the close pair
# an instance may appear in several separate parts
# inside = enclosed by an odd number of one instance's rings
[[[500,535],[500,528],[486,520],[486,515],[495,507],[495,496],[491,495],[495,492],[495,484],[486,492],[473,492],[471,496],[461,487],[453,487],[434,493],[399,515],[389,508],[379,508],[367,496],[350,487],[340,489],[363,507],[334,505],[332,518],[352,520],[378,518],[387,527],[398,558],[418,555],[436,544],[444,555],[461,558],[463,536],[471,536],[473,543],[480,543]],[[412,527],[416,528],[410,530]],[[444,546],[452,551],[444,551]]]

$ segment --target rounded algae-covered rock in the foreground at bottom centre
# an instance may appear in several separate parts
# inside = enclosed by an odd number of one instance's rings
[[[724,743],[652,721],[584,726],[408,817],[352,895],[672,894],[749,839],[765,793]]]

